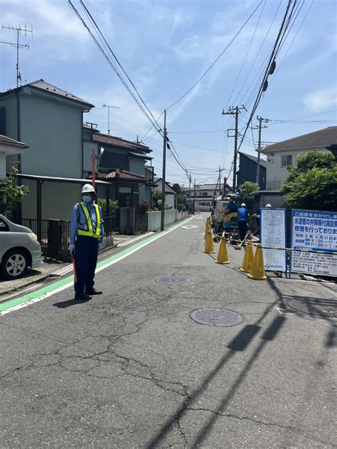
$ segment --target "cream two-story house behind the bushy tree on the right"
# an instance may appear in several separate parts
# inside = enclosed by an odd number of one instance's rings
[[[263,148],[267,155],[267,190],[279,190],[287,176],[287,166],[296,166],[299,154],[309,150],[336,151],[337,126],[329,126],[303,136]]]

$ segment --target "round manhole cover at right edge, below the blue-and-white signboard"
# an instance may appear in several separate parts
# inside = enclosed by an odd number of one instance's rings
[[[287,301],[289,307],[319,318],[337,318],[337,301],[333,299],[296,298]]]

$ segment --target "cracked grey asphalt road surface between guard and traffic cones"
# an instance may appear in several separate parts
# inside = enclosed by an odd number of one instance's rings
[[[232,248],[215,264],[201,218],[102,269],[92,301],[67,288],[0,317],[1,448],[336,447],[336,320],[287,306],[336,307],[336,286],[252,281]],[[200,325],[205,307],[244,321]]]

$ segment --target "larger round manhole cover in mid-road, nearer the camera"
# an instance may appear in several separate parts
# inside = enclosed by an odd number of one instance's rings
[[[236,326],[242,323],[243,317],[232,310],[213,307],[193,310],[190,313],[192,320],[208,326]]]

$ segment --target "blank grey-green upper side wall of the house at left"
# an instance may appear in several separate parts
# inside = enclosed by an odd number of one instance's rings
[[[29,93],[28,93],[29,92]],[[82,177],[82,110],[67,102],[26,90],[20,94],[21,173]]]

